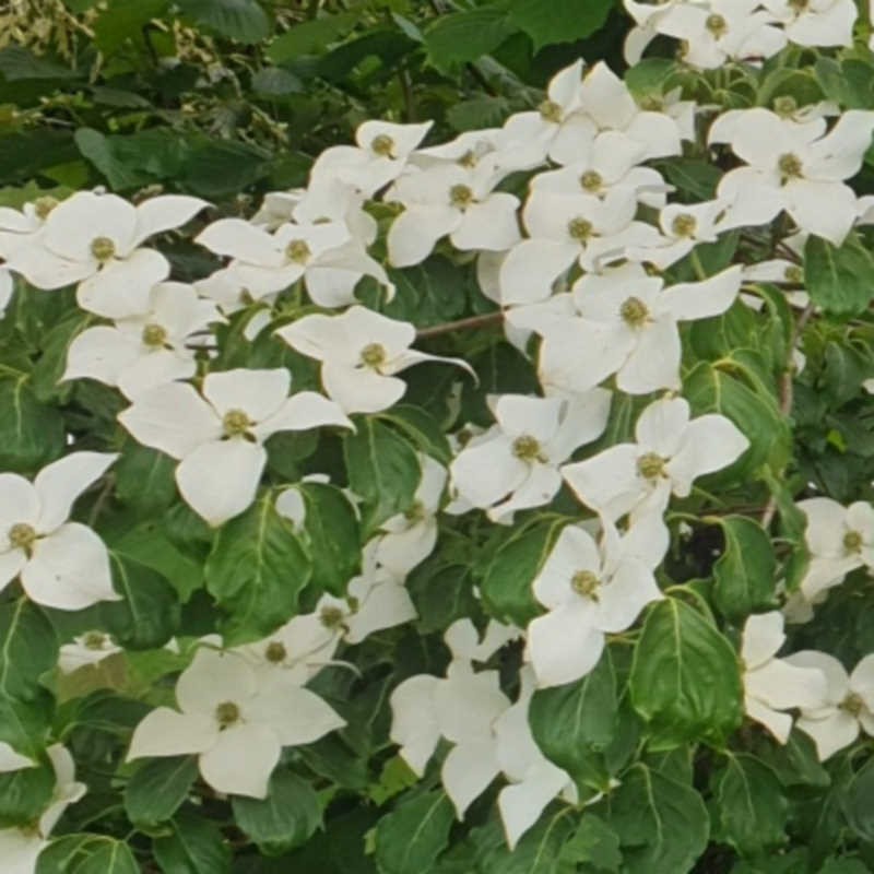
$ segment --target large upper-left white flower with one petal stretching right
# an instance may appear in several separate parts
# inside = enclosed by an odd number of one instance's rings
[[[37,288],[79,282],[79,305],[98,316],[142,312],[152,286],[169,274],[169,263],[140,244],[185,224],[206,205],[199,198],[167,194],[133,206],[116,194],[79,191],[48,213],[27,245],[10,252],[9,267]]]

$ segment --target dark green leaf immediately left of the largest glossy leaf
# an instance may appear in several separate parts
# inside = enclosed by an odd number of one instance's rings
[[[617,716],[616,677],[605,652],[582,680],[535,692],[528,721],[546,758],[578,783],[605,789],[609,775],[601,754],[616,734]]]

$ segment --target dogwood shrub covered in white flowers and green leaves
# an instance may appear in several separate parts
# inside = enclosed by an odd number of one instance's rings
[[[625,7],[248,217],[0,209],[3,871],[874,867],[870,22]]]

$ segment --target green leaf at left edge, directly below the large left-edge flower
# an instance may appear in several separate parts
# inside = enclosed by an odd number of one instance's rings
[[[58,660],[58,640],[43,611],[26,598],[0,604],[0,695],[33,699],[40,674]]]

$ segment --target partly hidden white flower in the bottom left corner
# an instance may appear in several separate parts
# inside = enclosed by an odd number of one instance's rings
[[[46,754],[55,770],[55,788],[49,805],[32,827],[0,829],[0,857],[9,874],[34,874],[39,854],[48,846],[48,836],[70,804],[87,791],[75,780],[75,763],[61,744],[52,744]],[[31,763],[33,764],[33,763]]]

